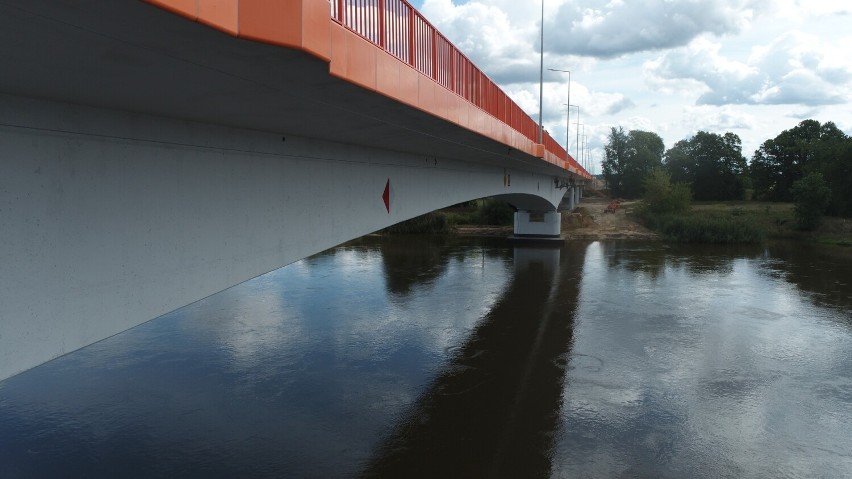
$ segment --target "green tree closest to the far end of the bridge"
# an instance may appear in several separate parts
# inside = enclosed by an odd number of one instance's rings
[[[637,198],[642,195],[642,179],[653,168],[662,165],[663,139],[656,133],[612,128],[604,146],[602,166],[604,179],[616,196]]]

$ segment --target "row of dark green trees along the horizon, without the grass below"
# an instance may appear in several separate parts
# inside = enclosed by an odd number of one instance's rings
[[[750,162],[734,133],[699,131],[665,150],[656,133],[611,129],[602,171],[613,195],[641,197],[655,168],[699,201],[801,202],[809,196],[808,207],[852,216],[852,137],[832,122],[805,120],[763,142]]]

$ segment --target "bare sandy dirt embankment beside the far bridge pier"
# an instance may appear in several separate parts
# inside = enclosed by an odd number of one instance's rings
[[[625,212],[633,202],[621,202],[609,213],[608,198],[584,198],[573,212],[562,212],[562,236],[565,239],[658,239],[656,233],[645,228]]]

